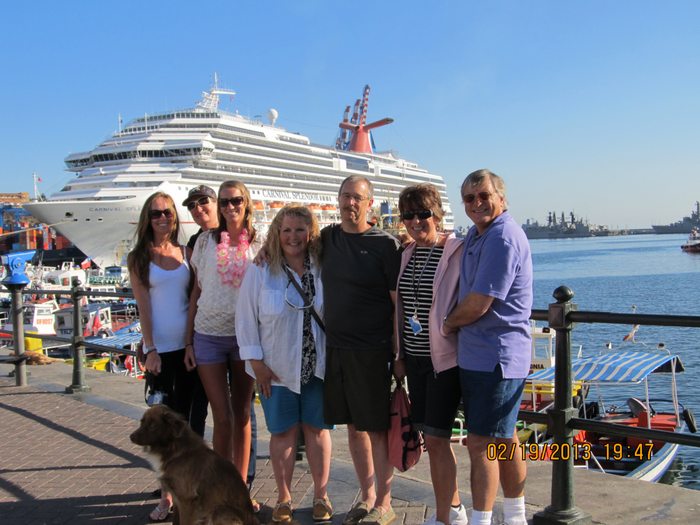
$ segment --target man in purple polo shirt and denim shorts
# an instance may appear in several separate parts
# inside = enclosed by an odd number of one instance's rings
[[[479,170],[462,184],[474,223],[465,239],[459,303],[444,330],[459,330],[458,364],[467,420],[474,511],[490,525],[498,484],[507,525],[526,525],[526,465],[515,432],[530,370],[532,258],[522,228],[506,211],[505,184]]]

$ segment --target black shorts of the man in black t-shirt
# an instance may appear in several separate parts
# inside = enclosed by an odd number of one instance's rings
[[[357,430],[389,428],[392,359],[390,349],[346,350],[326,347],[323,418],[328,425],[352,424]]]

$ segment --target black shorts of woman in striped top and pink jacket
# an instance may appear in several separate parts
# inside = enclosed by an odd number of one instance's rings
[[[427,435],[451,437],[462,400],[459,367],[436,374],[429,356],[406,355],[405,359],[413,423]]]

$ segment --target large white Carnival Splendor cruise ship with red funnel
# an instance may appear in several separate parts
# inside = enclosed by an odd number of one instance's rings
[[[136,118],[91,151],[66,157],[73,177],[45,201],[24,207],[41,222],[70,239],[100,267],[123,264],[134,241],[139,212],[155,191],[173,196],[183,224],[183,240],[197,230],[180,206],[190,188],[215,190],[225,180],[246,184],[254,201],[255,224],[265,231],[287,203],[309,206],[322,225],[339,221],[337,195],[349,175],[363,175],[374,185],[373,218],[380,226],[398,226],[397,201],[402,188],[430,182],[439,188],[444,226],[454,217],[442,177],[392,152],[374,149],[371,130],[392,122],[367,123],[370,88],[345,108],[333,147],[312,144],[308,137],[276,125],[219,109],[220,97],[235,92],[220,88],[216,78],[194,108]],[[368,217],[369,220],[372,217]]]

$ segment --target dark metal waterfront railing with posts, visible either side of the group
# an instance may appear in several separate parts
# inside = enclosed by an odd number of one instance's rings
[[[85,348],[112,353],[134,355],[134,351],[117,349],[100,345],[85,340],[80,304],[82,297],[121,297],[133,298],[130,292],[94,292],[85,290],[81,286],[74,286],[69,290],[17,290],[10,288],[12,292],[12,320],[13,335],[15,338],[15,354],[24,354],[24,334],[22,322],[22,295],[60,295],[69,296],[73,302],[73,336],[71,338],[58,336],[41,336],[32,334],[42,340],[60,341],[70,344],[73,359],[73,379],[67,392],[85,392],[89,387],[85,384],[83,361]],[[572,369],[571,369],[571,330],[573,323],[607,323],[624,325],[657,325],[700,328],[700,316],[677,315],[648,315],[648,314],[618,314],[611,312],[585,312],[578,311],[571,302],[574,293],[566,286],[560,286],[553,293],[556,303],[549,305],[547,310],[533,310],[531,318],[536,321],[547,321],[550,329],[556,332],[555,347],[555,377],[554,377],[554,406],[547,413],[521,411],[519,419],[530,423],[543,423],[548,427],[548,433],[553,435],[553,441],[559,449],[569,449],[573,446],[575,430],[590,430],[604,432],[613,436],[634,436],[643,439],[678,443],[686,446],[700,447],[700,436],[678,434],[649,428],[631,428],[591,421],[577,417],[579,411],[573,407],[572,398]],[[7,332],[5,332],[7,333]],[[15,375],[18,386],[26,386],[26,372],[22,371],[25,363],[23,360],[15,364]],[[552,498],[551,505],[543,511],[535,514],[536,525],[557,524],[585,524],[591,522],[589,514],[577,508],[574,504],[573,486],[574,457],[554,461],[552,463]]]

